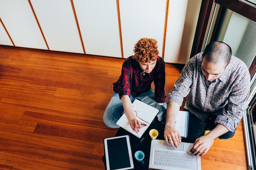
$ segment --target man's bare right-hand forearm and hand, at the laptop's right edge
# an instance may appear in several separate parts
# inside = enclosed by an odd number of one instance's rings
[[[217,137],[227,133],[229,130],[222,124],[217,126],[204,136],[201,136],[195,140],[193,147],[190,152],[194,155],[203,156],[211,148],[212,142]]]

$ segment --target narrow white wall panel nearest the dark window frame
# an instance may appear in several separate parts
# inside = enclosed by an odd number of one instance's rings
[[[180,62],[179,53],[182,42],[187,4],[188,0],[170,0],[164,52],[165,62],[186,63],[186,61]],[[185,59],[186,58],[187,56],[185,56]]]

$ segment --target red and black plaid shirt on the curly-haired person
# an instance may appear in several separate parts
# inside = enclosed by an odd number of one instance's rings
[[[165,66],[164,60],[157,57],[155,68],[149,74],[143,75],[144,71],[139,66],[139,62],[128,57],[122,66],[121,76],[116,83],[113,83],[114,92],[119,93],[121,98],[123,95],[132,94],[134,98],[140,94],[147,92],[151,88],[151,83],[155,84],[155,101],[159,103],[165,102],[164,85],[165,85]]]

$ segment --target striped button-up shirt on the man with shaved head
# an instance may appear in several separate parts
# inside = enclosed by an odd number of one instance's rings
[[[202,52],[192,57],[182,69],[168,101],[186,106],[198,119],[204,122],[210,113],[217,115],[215,124],[222,124],[234,132],[243,117],[249,96],[250,74],[243,61],[231,56],[222,76],[207,81],[201,70]]]

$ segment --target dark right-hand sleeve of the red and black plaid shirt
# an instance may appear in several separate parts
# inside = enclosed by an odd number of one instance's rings
[[[165,102],[164,85],[165,85],[165,65],[164,60],[159,57],[159,66],[157,68],[157,74],[154,77],[155,84],[155,101],[159,103]]]

